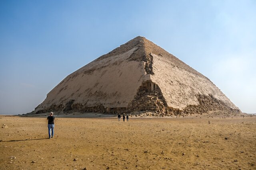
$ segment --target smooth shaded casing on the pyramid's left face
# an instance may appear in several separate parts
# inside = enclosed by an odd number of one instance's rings
[[[37,110],[47,109],[52,104],[65,105],[70,100],[74,100],[74,104],[86,106],[127,107],[145,73],[142,62],[123,61],[135,49],[122,55],[95,60],[70,74],[48,93]]]

